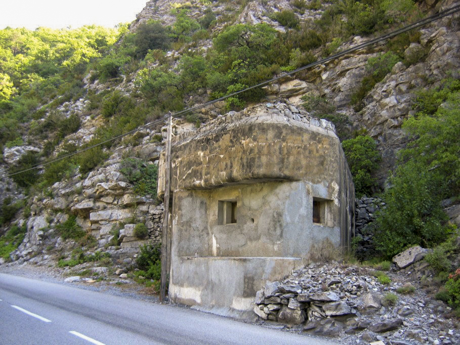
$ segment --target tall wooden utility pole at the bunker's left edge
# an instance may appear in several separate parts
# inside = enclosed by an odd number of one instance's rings
[[[164,179],[164,201],[163,201],[163,228],[161,236],[161,280],[160,280],[160,302],[166,297],[166,281],[168,280],[168,221],[170,214],[170,189],[171,189],[171,138],[173,136],[173,117],[170,116],[168,125],[168,137],[166,138],[166,166]]]

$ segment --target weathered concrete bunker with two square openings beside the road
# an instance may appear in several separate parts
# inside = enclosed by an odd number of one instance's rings
[[[230,112],[175,137],[171,162],[176,303],[252,316],[256,291],[305,265],[312,244],[350,245],[354,187],[328,121],[285,103]]]

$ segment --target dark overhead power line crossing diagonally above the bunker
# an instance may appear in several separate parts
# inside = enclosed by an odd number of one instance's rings
[[[454,14],[454,13],[456,13],[456,12],[458,12],[458,11],[460,11],[460,5],[454,6],[454,7],[452,7],[452,8],[447,9],[447,10],[444,10],[444,11],[441,11],[441,12],[439,12],[439,13],[433,15],[433,16],[430,16],[430,17],[427,17],[427,18],[425,18],[425,19],[416,21],[416,22],[414,22],[414,23],[412,23],[412,24],[406,25],[406,26],[404,26],[404,27],[402,27],[402,28],[400,28],[400,29],[398,29],[398,30],[395,30],[395,31],[392,31],[392,32],[390,32],[390,33],[384,34],[384,35],[379,36],[379,37],[377,37],[377,38],[373,38],[373,39],[367,40],[367,41],[365,41],[365,42],[363,42],[363,43],[361,43],[361,44],[359,44],[359,45],[357,45],[357,46],[351,47],[351,48],[346,49],[346,50],[344,50],[344,51],[342,51],[342,52],[340,52],[340,53],[331,55],[331,56],[329,56],[329,57],[327,57],[327,58],[324,58],[324,59],[321,59],[321,60],[317,60],[317,61],[315,61],[315,62],[313,62],[313,63],[311,63],[311,64],[308,64],[308,65],[306,65],[306,66],[300,67],[300,68],[295,69],[295,70],[293,70],[293,71],[283,73],[283,74],[281,74],[281,75],[279,75],[279,76],[276,76],[276,77],[274,77],[274,78],[272,78],[272,79],[270,79],[270,80],[266,80],[266,81],[263,81],[263,82],[258,83],[258,84],[256,84],[256,85],[253,85],[252,87],[248,87],[248,88],[246,88],[246,89],[243,89],[243,90],[234,92],[234,93],[232,93],[232,94],[223,96],[223,97],[221,97],[221,98],[218,98],[218,99],[215,99],[215,100],[212,100],[212,101],[209,101],[209,102],[206,102],[206,103],[203,103],[203,104],[194,106],[194,107],[192,107],[192,108],[187,108],[187,109],[184,109],[184,110],[182,110],[182,111],[178,111],[178,112],[176,112],[176,113],[174,113],[174,114],[171,114],[171,113],[170,113],[170,114],[165,115],[165,116],[163,116],[163,117],[161,117],[161,118],[159,118],[159,119],[156,119],[156,120],[151,121],[151,122],[149,122],[149,123],[146,123],[146,124],[144,124],[144,125],[142,125],[142,126],[139,126],[139,127],[135,128],[134,130],[129,131],[129,132],[127,132],[127,133],[120,134],[120,135],[118,135],[118,136],[116,136],[116,137],[113,137],[113,138],[111,138],[111,139],[105,140],[105,141],[100,142],[100,143],[98,143],[98,144],[94,144],[94,145],[85,147],[85,148],[83,148],[83,149],[80,149],[80,150],[77,150],[77,151],[75,151],[75,152],[72,152],[72,153],[69,153],[69,154],[66,154],[66,155],[63,155],[63,156],[60,156],[60,157],[57,157],[57,158],[48,160],[48,161],[46,161],[46,162],[42,162],[42,163],[39,163],[39,164],[35,164],[35,165],[33,165],[32,167],[30,167],[30,168],[28,168],[28,169],[24,169],[24,170],[21,170],[21,171],[13,172],[12,174],[9,174],[9,175],[4,175],[2,178],[11,177],[11,176],[14,176],[14,175],[22,174],[23,172],[30,171],[30,170],[33,170],[33,169],[37,169],[37,168],[40,168],[40,167],[43,167],[43,166],[52,164],[52,163],[54,163],[54,162],[57,162],[57,161],[60,161],[60,160],[63,160],[63,159],[72,157],[72,156],[77,155],[77,154],[79,154],[79,153],[81,153],[81,152],[85,152],[85,151],[91,150],[91,149],[93,149],[93,148],[95,148],[95,147],[98,147],[98,146],[107,144],[107,143],[112,142],[112,141],[114,141],[114,140],[121,139],[121,138],[123,138],[123,137],[126,137],[126,136],[129,136],[129,135],[131,135],[131,134],[134,134],[134,133],[136,133],[136,132],[138,132],[138,131],[144,130],[144,129],[146,129],[146,128],[148,128],[148,127],[151,127],[151,126],[153,126],[153,125],[155,125],[155,124],[157,124],[157,123],[163,122],[165,119],[168,119],[168,118],[170,118],[170,117],[172,117],[172,116],[175,116],[175,117],[181,116],[181,115],[190,113],[190,112],[192,112],[192,111],[195,111],[195,110],[198,110],[198,109],[205,108],[205,107],[210,106],[210,105],[212,105],[212,104],[214,104],[214,103],[217,103],[217,102],[220,102],[220,101],[224,101],[224,100],[226,100],[227,98],[230,98],[230,97],[233,97],[233,96],[242,94],[242,93],[244,93],[244,92],[246,92],[246,91],[253,90],[253,89],[256,89],[256,88],[260,88],[260,87],[263,87],[263,86],[268,85],[269,83],[272,83],[272,82],[274,82],[274,81],[276,81],[276,80],[285,78],[286,76],[289,76],[289,75],[292,75],[292,74],[296,74],[296,73],[301,72],[301,71],[303,71],[303,70],[306,70],[306,69],[308,69],[308,68],[311,68],[311,67],[314,67],[314,66],[318,66],[318,65],[324,64],[324,63],[329,62],[329,61],[331,61],[331,60],[337,59],[337,58],[339,58],[339,57],[341,57],[341,56],[344,56],[344,55],[353,53],[353,52],[355,52],[355,51],[358,51],[358,50],[360,50],[360,49],[363,49],[363,48],[372,46],[372,45],[374,45],[374,44],[376,44],[376,43],[378,43],[378,42],[381,42],[381,41],[383,41],[383,40],[386,40],[386,39],[395,37],[395,36],[397,36],[397,35],[399,35],[399,34],[401,34],[401,33],[404,33],[404,32],[407,32],[407,31],[409,31],[409,30],[415,29],[415,28],[417,28],[417,27],[423,26],[423,25],[425,25],[425,24],[434,22],[434,21],[436,21],[436,20],[438,20],[438,19],[447,17],[447,16],[449,16],[449,15],[451,15],[451,14]]]

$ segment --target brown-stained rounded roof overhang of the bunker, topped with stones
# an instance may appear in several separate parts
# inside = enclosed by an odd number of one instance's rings
[[[277,107],[281,111],[259,105],[230,112],[176,137],[171,189],[337,180],[343,152],[333,125],[301,112],[286,115],[284,103]]]

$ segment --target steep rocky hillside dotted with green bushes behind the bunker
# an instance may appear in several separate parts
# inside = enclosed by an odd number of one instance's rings
[[[369,4],[151,0],[135,22],[116,34],[94,31],[91,54],[69,50],[50,58],[46,66],[37,64],[43,57],[33,55],[23,71],[34,71],[28,81],[2,67],[0,263],[40,264],[51,257],[61,267],[71,267],[107,253],[119,268],[133,268],[140,246],[161,238],[156,174],[165,132],[159,123],[109,139],[166,112],[242,90],[457,2]],[[20,44],[22,55],[35,54],[26,39],[14,41],[15,35],[32,33],[5,29],[2,34],[5,41],[14,42],[2,46],[9,62],[16,61],[15,47]],[[40,37],[46,47],[54,47],[45,33]],[[69,59],[72,54],[84,58]],[[401,126],[420,110],[415,101],[426,90],[442,87],[446,79],[457,80],[459,57],[455,14],[189,113],[174,120],[174,131],[193,131],[229,111],[281,101],[332,121],[342,139],[370,136],[381,155],[372,172],[378,180],[372,191],[379,191],[395,168],[396,153],[408,142]],[[50,67],[54,65],[59,68]],[[5,177],[97,144],[102,145]]]

